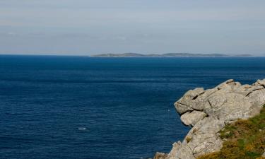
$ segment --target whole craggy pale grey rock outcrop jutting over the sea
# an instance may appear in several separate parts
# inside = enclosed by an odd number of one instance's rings
[[[184,141],[173,144],[170,153],[160,159],[195,159],[219,151],[223,141],[218,132],[225,124],[247,119],[259,113],[265,103],[265,79],[252,85],[241,85],[232,79],[215,88],[189,90],[175,102],[180,119],[192,126]]]

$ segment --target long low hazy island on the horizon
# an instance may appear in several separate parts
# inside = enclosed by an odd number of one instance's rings
[[[90,57],[252,57],[251,54],[192,54],[192,53],[166,53],[166,54],[138,54],[138,53],[122,53],[122,54],[95,54]]]

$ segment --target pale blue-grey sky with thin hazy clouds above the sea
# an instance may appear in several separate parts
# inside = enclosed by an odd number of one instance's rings
[[[0,0],[0,54],[265,55],[264,0]]]

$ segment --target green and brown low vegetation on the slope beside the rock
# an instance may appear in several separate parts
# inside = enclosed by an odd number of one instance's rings
[[[257,116],[225,126],[220,138],[224,143],[219,152],[198,159],[265,159],[261,157],[265,150],[265,105]]]

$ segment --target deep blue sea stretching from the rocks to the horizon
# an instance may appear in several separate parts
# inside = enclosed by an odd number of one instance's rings
[[[265,58],[0,56],[0,158],[168,152],[189,131],[173,103],[229,78],[265,78]]]

